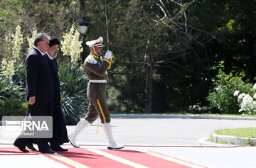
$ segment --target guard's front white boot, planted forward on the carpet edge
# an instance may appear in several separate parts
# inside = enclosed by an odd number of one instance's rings
[[[117,142],[114,141],[110,123],[102,123],[102,128],[103,128],[105,134],[107,135],[107,140],[108,140],[107,149],[108,150],[118,150],[118,149],[124,148],[124,145],[118,144]]]

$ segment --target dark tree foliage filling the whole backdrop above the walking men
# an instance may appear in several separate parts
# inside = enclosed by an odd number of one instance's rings
[[[24,37],[37,27],[63,41],[65,30],[85,15],[91,23],[85,40],[102,36],[107,46],[105,2],[115,55],[108,71],[114,102],[110,111],[149,107],[152,113],[164,113],[195,105],[207,112],[206,97],[218,74],[211,67],[222,60],[227,74],[255,82],[256,5],[251,0],[5,0],[0,2],[0,48],[4,35],[18,24]],[[21,47],[21,59],[27,45]],[[58,62],[68,61],[58,57]]]

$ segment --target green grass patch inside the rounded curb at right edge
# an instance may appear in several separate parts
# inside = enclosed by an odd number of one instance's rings
[[[225,128],[221,130],[216,130],[215,134],[217,135],[230,135],[235,137],[243,137],[243,138],[256,138],[256,128]]]

